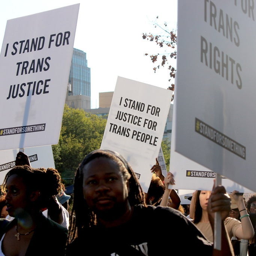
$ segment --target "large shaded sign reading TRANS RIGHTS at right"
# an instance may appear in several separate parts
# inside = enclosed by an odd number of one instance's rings
[[[249,3],[178,1],[175,151],[255,190],[256,13]]]

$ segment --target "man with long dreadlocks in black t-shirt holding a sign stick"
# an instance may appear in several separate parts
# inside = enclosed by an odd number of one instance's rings
[[[222,216],[220,250],[180,211],[145,204],[139,180],[120,154],[94,150],[76,170],[72,207],[75,218],[69,227],[66,256],[80,255],[85,249],[87,255],[169,255],[173,244],[184,247],[184,234],[189,234],[189,254],[234,255],[223,222],[231,205],[225,187],[214,187],[209,202],[213,229],[214,214],[220,212]],[[149,225],[159,219],[165,225]],[[161,236],[159,246],[155,235],[166,232],[168,235]]]

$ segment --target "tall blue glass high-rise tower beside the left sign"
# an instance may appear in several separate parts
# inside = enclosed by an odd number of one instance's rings
[[[91,97],[91,69],[87,66],[86,53],[76,48],[73,49],[69,83],[73,96]]]

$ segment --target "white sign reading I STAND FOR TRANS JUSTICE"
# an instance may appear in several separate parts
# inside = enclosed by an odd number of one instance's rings
[[[79,4],[7,21],[0,150],[58,144]]]

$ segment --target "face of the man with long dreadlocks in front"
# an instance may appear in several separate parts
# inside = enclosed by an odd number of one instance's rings
[[[84,199],[91,210],[102,219],[115,218],[127,210],[128,181],[114,160],[98,157],[82,171]]]

